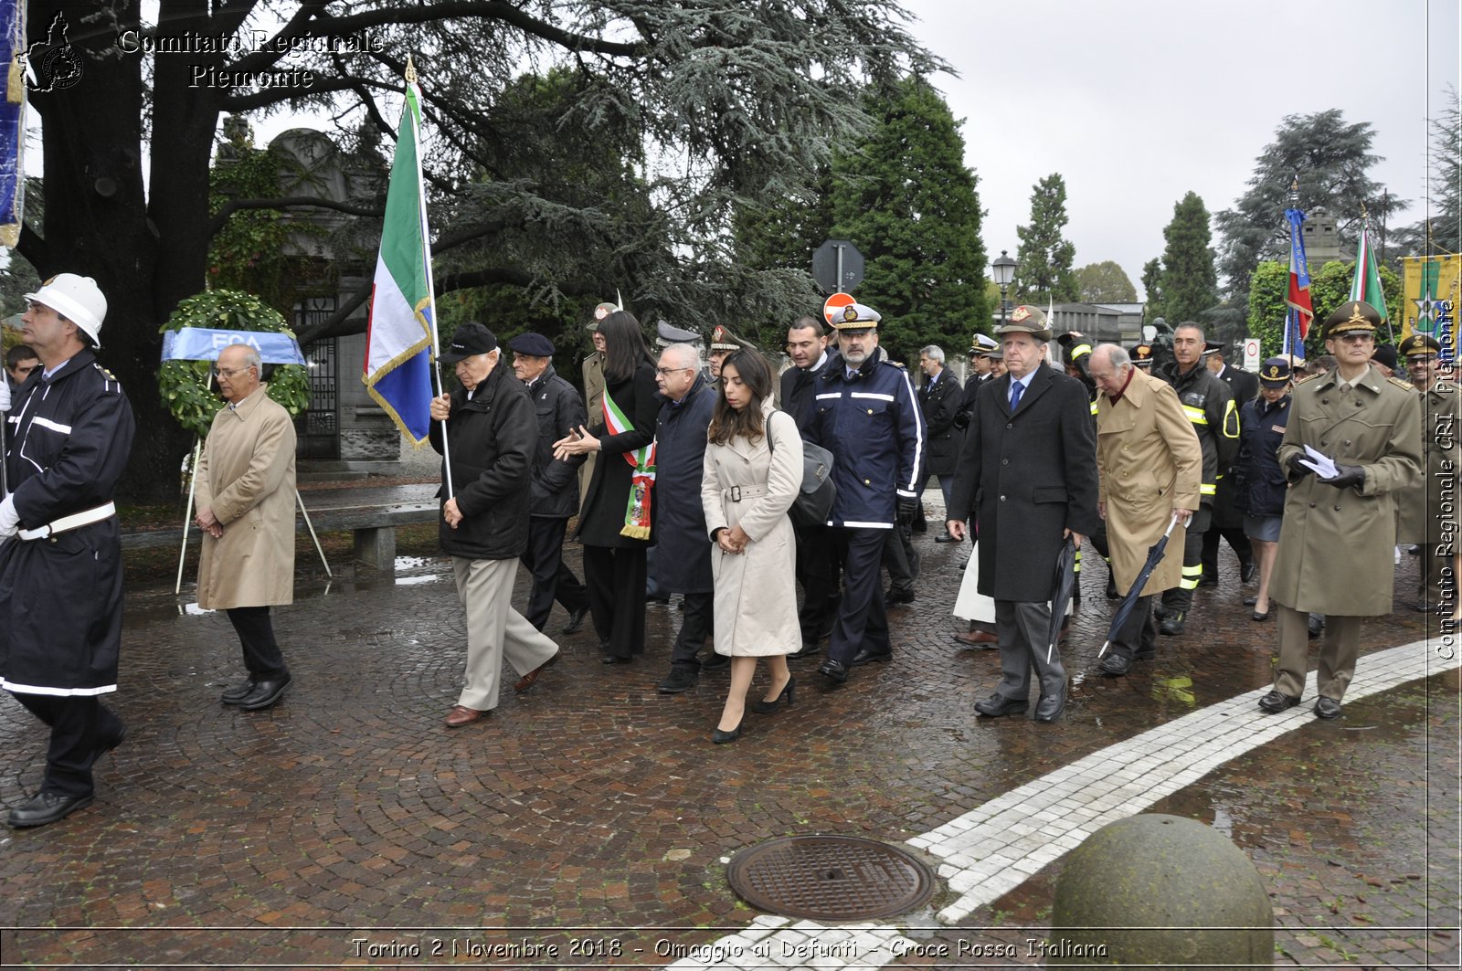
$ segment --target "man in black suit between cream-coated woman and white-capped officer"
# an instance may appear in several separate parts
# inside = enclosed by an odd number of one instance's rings
[[[817,376],[827,367],[827,329],[816,317],[798,317],[787,329],[787,354],[792,366],[782,371],[782,411],[807,437],[817,414]],[[797,581],[803,585],[803,649],[800,658],[817,652],[817,642],[838,617],[839,566],[832,531],[826,525],[792,524],[797,535]]]

